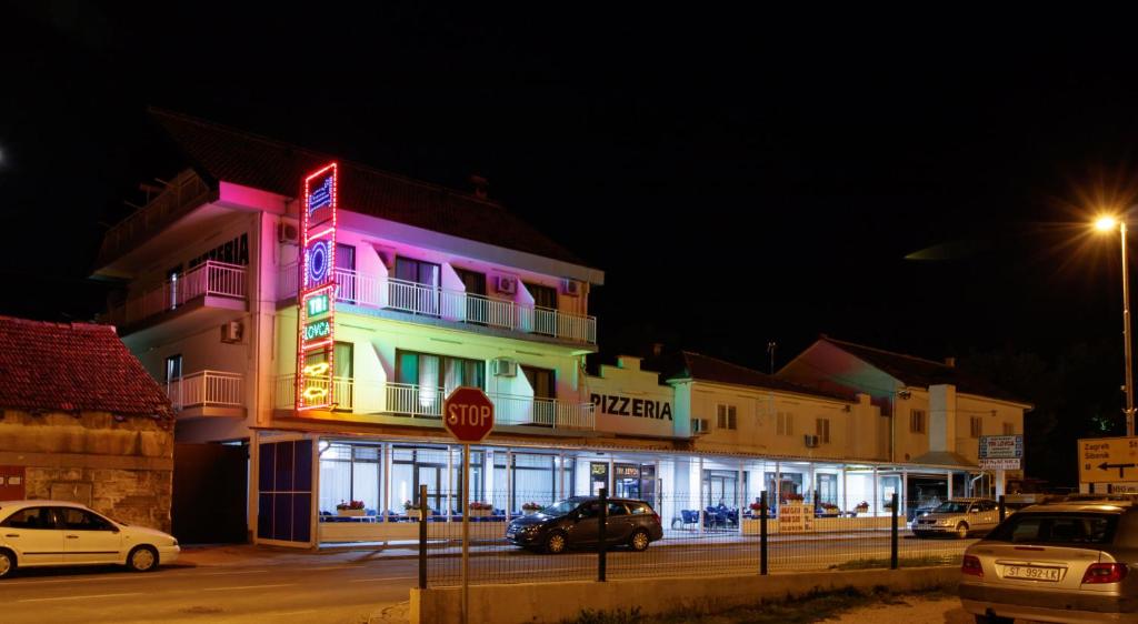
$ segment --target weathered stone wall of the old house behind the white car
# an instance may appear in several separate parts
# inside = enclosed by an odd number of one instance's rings
[[[170,531],[172,423],[107,413],[0,416],[0,465],[25,467],[25,496],[90,505],[117,521]]]

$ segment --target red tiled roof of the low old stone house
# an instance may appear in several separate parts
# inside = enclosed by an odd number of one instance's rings
[[[110,325],[0,316],[0,408],[173,416]]]

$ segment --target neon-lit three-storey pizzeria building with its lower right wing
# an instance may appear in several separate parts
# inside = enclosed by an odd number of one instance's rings
[[[696,353],[589,374],[604,274],[479,190],[155,118],[192,166],[107,233],[96,274],[123,286],[108,321],[170,393],[178,440],[249,446],[257,542],[411,536],[401,521],[421,484],[452,522],[468,497],[506,519],[602,486],[666,524],[737,514],[762,490],[873,498],[883,514],[915,465],[890,455],[869,392]],[[495,406],[469,493],[440,422],[460,385]],[[946,489],[978,472],[925,467]]]

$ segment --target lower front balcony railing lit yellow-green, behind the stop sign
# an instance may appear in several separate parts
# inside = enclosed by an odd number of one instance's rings
[[[296,400],[295,375],[277,378],[274,407],[292,409]],[[327,383],[327,382],[325,382]],[[361,382],[336,377],[332,380],[337,411],[380,414],[401,421],[429,423],[442,426],[443,388],[403,383]],[[494,426],[535,426],[551,430],[594,431],[596,415],[593,403],[576,403],[556,399],[538,399],[513,394],[487,393],[494,403]]]

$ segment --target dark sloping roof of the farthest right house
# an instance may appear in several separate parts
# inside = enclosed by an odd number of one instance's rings
[[[987,380],[970,375],[955,366],[949,366],[942,361],[924,359],[905,353],[894,353],[892,351],[885,351],[884,349],[855,344],[843,340],[835,340],[827,335],[823,335],[818,339],[818,341],[828,342],[838,347],[858,359],[880,368],[906,385],[929,388],[938,384],[953,384],[956,386],[958,392],[963,392],[965,394],[976,394],[980,397],[989,397],[992,399],[1030,405],[1029,401],[1025,401],[1022,398],[996,386]]]

